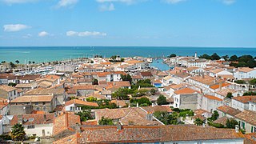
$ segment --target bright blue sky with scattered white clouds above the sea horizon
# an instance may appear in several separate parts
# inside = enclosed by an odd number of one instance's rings
[[[256,0],[0,0],[0,46],[256,47]]]

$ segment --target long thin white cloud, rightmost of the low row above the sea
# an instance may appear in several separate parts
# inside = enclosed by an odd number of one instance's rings
[[[78,37],[89,37],[89,36],[106,36],[106,33],[101,33],[98,31],[67,31],[66,36],[78,36]]]

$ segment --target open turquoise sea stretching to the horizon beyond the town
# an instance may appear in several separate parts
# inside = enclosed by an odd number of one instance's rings
[[[243,55],[256,56],[256,48],[214,48],[214,47],[153,47],[153,46],[45,46],[45,47],[0,47],[0,62],[21,63],[60,61],[68,58],[91,57],[92,54],[101,54],[110,57],[118,54],[121,57],[162,57],[170,54],[191,56],[197,52],[201,54]]]

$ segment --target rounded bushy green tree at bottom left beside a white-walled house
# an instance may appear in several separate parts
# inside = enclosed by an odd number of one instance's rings
[[[26,133],[24,131],[24,126],[22,124],[15,124],[12,126],[10,131],[10,137],[14,141],[22,141],[25,139]]]

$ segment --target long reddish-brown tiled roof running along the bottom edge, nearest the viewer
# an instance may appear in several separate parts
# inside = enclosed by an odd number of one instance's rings
[[[194,125],[82,126],[81,143],[186,142],[244,138],[241,132]]]

